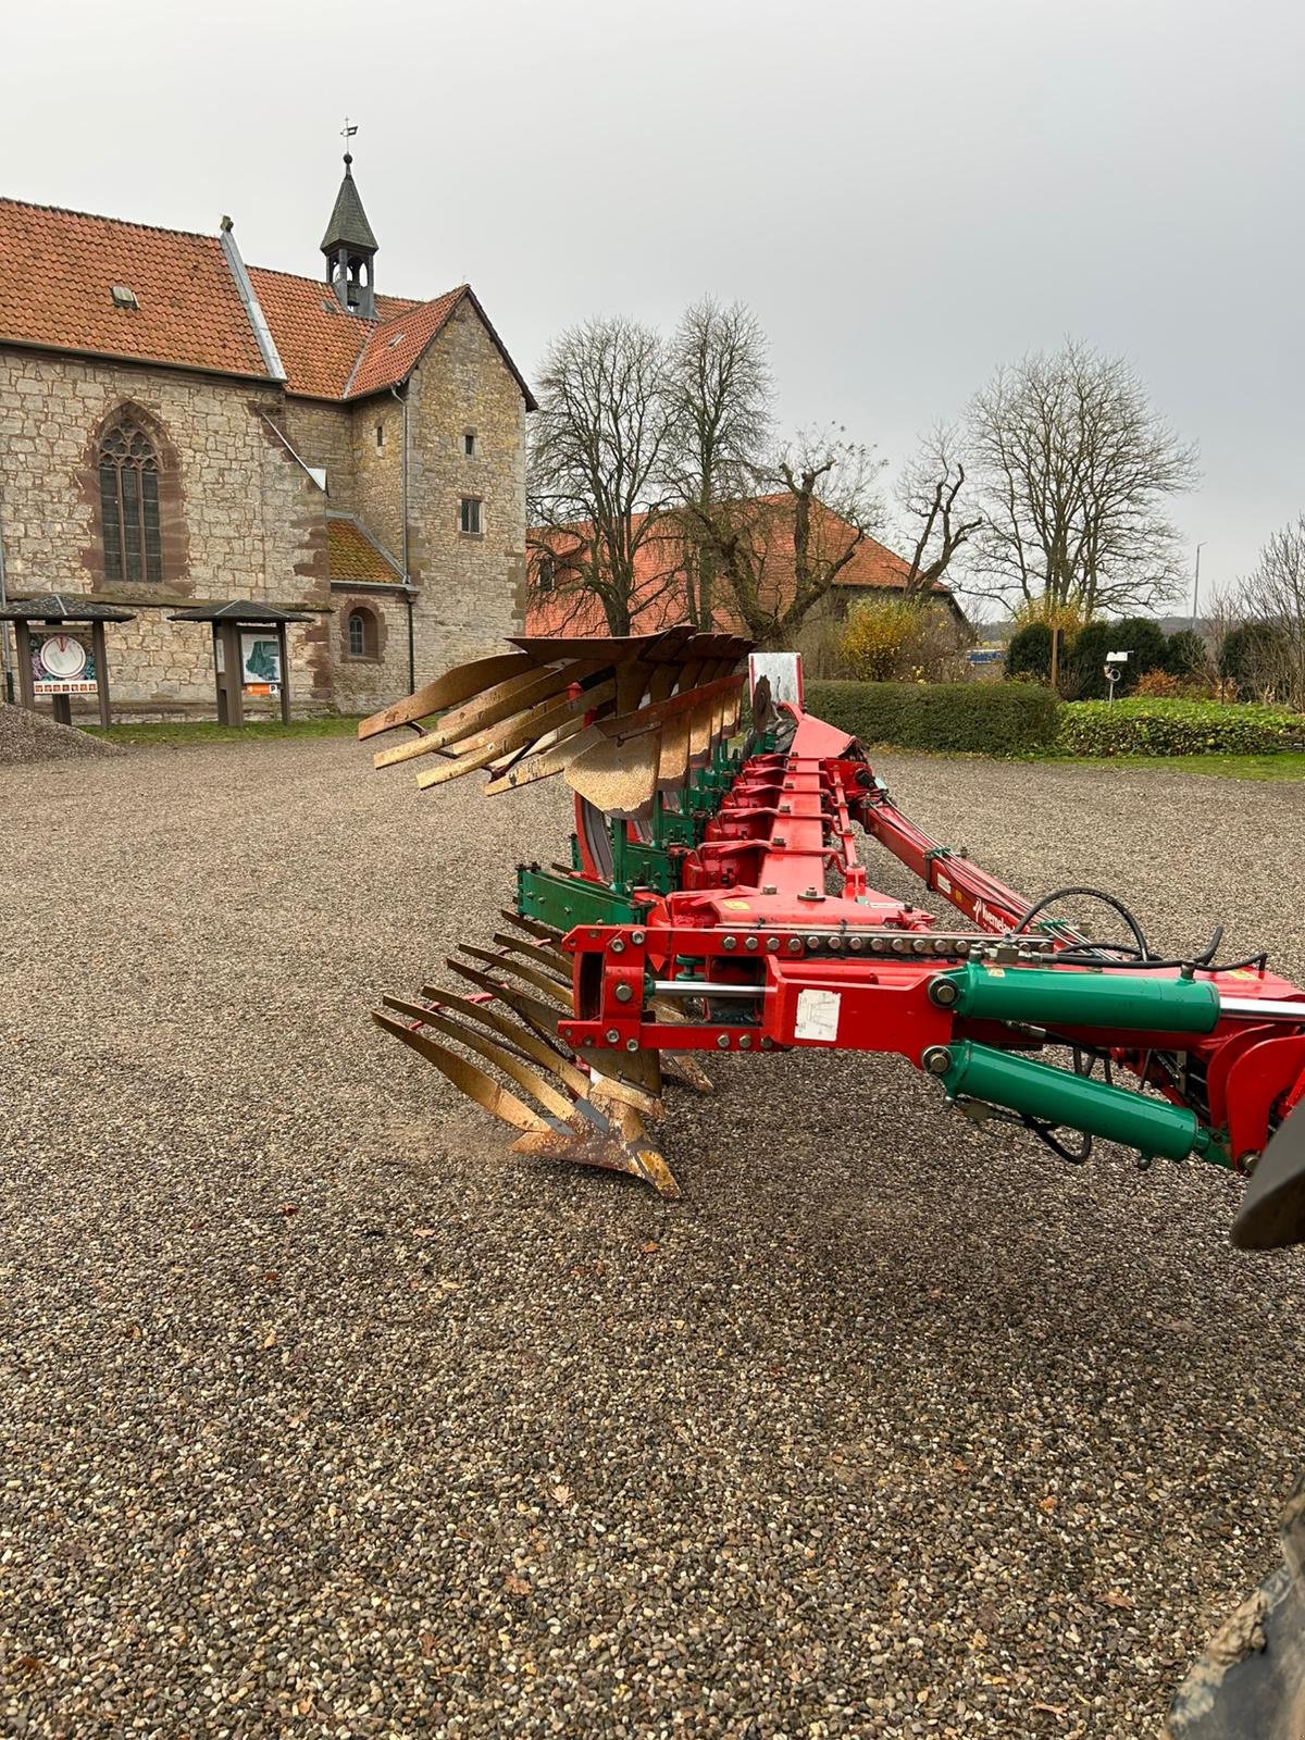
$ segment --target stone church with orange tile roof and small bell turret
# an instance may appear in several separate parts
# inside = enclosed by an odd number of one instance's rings
[[[212,717],[209,635],[169,621],[195,606],[310,614],[296,713],[371,712],[520,628],[531,390],[470,285],[385,296],[376,254],[350,155],[317,278],[247,266],[228,218],[0,200],[0,597],[134,611],[120,717]]]

